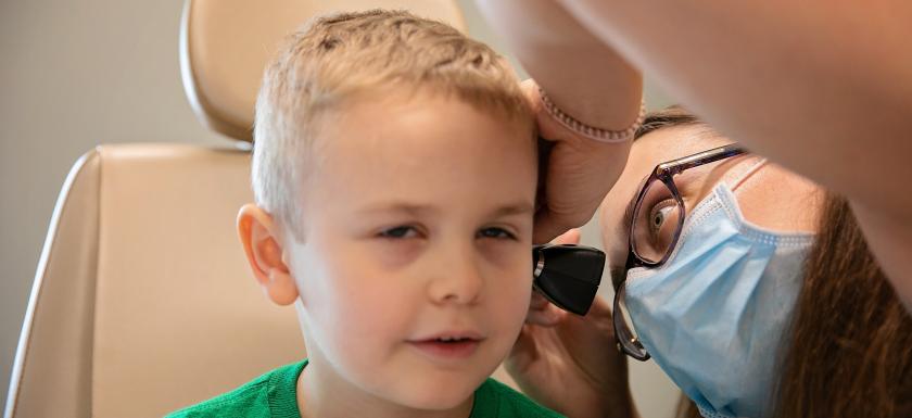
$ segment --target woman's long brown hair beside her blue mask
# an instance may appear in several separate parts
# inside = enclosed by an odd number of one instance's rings
[[[674,106],[636,137],[701,125]],[[912,417],[912,317],[871,254],[848,201],[827,192],[781,356],[774,417]],[[699,417],[682,398],[677,417]]]

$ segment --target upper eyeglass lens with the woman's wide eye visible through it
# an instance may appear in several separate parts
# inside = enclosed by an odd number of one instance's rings
[[[658,263],[677,236],[681,204],[661,180],[651,180],[633,212],[631,244],[639,258]]]

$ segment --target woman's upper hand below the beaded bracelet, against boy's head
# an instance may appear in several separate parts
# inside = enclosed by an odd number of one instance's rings
[[[588,221],[626,164],[631,141],[599,142],[563,127],[544,109],[533,80],[522,83],[539,135],[550,150],[540,169],[540,203],[535,213],[535,243],[548,242]]]

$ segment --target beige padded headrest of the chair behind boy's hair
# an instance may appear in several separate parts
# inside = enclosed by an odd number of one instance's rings
[[[180,25],[180,73],[197,117],[251,141],[256,93],[281,40],[312,16],[334,11],[405,9],[465,31],[454,0],[187,0]]]

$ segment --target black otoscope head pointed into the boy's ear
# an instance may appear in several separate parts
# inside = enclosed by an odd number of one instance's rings
[[[585,245],[535,245],[532,248],[533,287],[557,307],[586,315],[595,300],[605,253]]]

